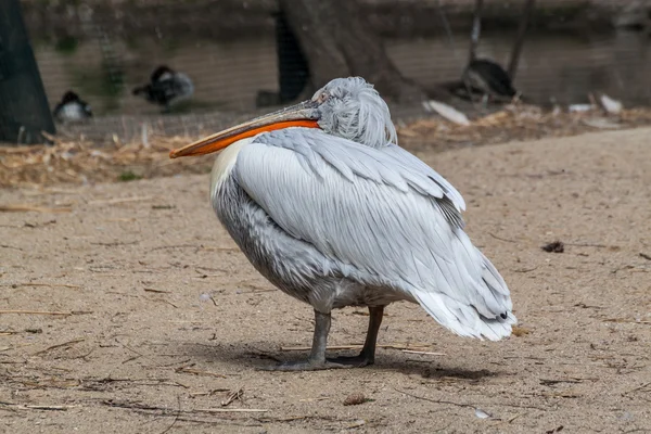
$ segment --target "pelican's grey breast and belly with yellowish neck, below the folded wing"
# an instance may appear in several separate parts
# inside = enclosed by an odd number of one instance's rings
[[[241,176],[238,156],[243,152],[242,158],[245,158],[252,146],[281,141],[288,133],[292,137],[305,135],[306,138],[312,133],[324,135],[303,128],[275,131],[267,137],[233,143],[215,161],[210,189],[213,207],[248,260],[281,291],[323,312],[345,306],[384,306],[400,299],[416,302],[398,288],[387,286],[382,291],[370,288],[369,284],[376,280],[372,276],[365,276],[341,260],[323,255],[309,241],[291,235],[251,199],[238,181]],[[292,170],[291,165],[286,168]],[[301,207],[298,203],[289,205]]]

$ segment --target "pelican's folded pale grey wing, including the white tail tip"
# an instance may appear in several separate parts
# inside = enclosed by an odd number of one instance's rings
[[[458,334],[510,334],[509,290],[463,232],[461,196],[403,153],[288,128],[244,146],[233,174],[279,227],[369,285],[410,293]]]

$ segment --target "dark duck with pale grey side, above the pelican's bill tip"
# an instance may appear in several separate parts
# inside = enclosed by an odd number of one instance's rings
[[[190,77],[165,65],[152,73],[149,84],[133,89],[135,95],[142,95],[152,104],[161,105],[164,113],[169,113],[173,105],[188,100],[193,93],[194,85]]]

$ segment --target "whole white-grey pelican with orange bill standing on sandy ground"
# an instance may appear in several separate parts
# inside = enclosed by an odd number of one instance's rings
[[[463,231],[463,199],[397,145],[386,103],[362,78],[336,78],[170,157],[216,151],[217,217],[265,278],[315,311],[308,359],[269,369],[373,363],[384,307],[397,301],[461,336],[511,334],[509,289]],[[369,309],[363,348],[326,358],[331,311],[345,306]]]

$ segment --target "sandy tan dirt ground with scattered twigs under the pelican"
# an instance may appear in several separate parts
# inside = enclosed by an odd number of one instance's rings
[[[651,432],[650,137],[420,154],[465,197],[520,329],[465,340],[395,304],[355,370],[256,369],[306,357],[311,310],[237,250],[207,175],[0,190],[59,210],[0,213],[0,432]],[[336,311],[329,344],[367,319]]]

